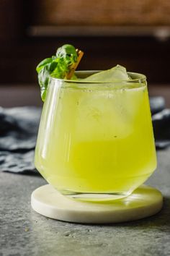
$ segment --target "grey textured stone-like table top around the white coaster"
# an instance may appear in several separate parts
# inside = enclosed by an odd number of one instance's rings
[[[164,195],[156,216],[112,225],[81,225],[45,218],[30,206],[40,176],[0,173],[0,256],[170,255],[170,149],[146,182]]]

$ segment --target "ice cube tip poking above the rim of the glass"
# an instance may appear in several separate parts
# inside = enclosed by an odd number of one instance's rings
[[[120,82],[128,81],[130,77],[126,72],[125,67],[117,65],[112,67],[112,69],[104,70],[96,74],[92,74],[84,79],[87,82]]]

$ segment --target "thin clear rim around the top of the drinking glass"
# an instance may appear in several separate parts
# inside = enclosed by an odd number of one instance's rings
[[[97,72],[102,72],[104,70],[79,70],[79,71],[75,71],[75,74],[86,74],[86,73],[89,73],[89,74],[94,74],[94,73],[97,73]],[[146,82],[146,75],[145,74],[141,74],[141,73],[136,73],[136,72],[127,72],[128,74],[130,75],[133,75],[133,76],[136,76],[136,78],[134,79],[131,79],[131,80],[117,80],[115,82],[91,82],[91,81],[84,81],[84,80],[67,80],[67,79],[62,79],[62,78],[56,78],[56,77],[53,77],[53,76],[50,76],[50,79],[51,80],[55,80],[55,81],[58,81],[58,82],[66,82],[66,83],[74,83],[74,84],[89,84],[89,85],[114,85],[114,84],[117,84],[117,83],[130,83],[130,82],[139,82],[139,83],[143,83],[143,82]]]

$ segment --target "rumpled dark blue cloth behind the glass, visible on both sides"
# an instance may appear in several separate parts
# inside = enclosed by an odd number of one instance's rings
[[[170,109],[164,98],[150,99],[156,148],[170,145]],[[38,174],[33,158],[41,108],[0,108],[0,170]]]

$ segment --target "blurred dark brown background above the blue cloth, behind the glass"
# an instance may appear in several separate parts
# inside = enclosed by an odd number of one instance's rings
[[[41,106],[35,67],[64,43],[79,69],[116,64],[148,77],[170,106],[169,0],[0,0],[0,105]]]

